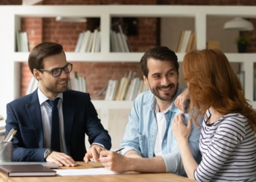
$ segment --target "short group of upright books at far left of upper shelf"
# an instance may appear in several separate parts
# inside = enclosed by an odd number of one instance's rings
[[[16,50],[18,52],[29,52],[28,34],[26,32],[16,31]]]

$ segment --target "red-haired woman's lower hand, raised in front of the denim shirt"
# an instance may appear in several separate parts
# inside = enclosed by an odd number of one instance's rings
[[[191,130],[191,119],[189,118],[186,126],[182,120],[182,115],[183,114],[178,114],[173,119],[173,127],[172,127],[173,135],[175,136],[178,143],[187,141],[190,135],[190,130]]]

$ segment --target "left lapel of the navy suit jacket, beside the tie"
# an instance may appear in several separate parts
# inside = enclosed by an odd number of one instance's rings
[[[42,131],[42,116],[41,109],[39,105],[37,90],[35,90],[28,102],[26,103],[26,109],[29,113],[31,124],[34,127],[34,132],[37,136],[37,142],[39,143],[39,148],[43,148],[44,136]]]

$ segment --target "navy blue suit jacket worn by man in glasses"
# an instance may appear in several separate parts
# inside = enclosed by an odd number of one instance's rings
[[[67,155],[75,161],[83,161],[86,154],[85,134],[89,143],[100,143],[111,148],[111,138],[97,117],[88,93],[67,90],[63,93],[62,111]],[[7,104],[5,137],[14,128],[13,161],[43,162],[42,116],[37,90]]]

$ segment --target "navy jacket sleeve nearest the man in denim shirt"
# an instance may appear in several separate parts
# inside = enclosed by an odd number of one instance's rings
[[[108,131],[102,126],[94,105],[91,103],[91,98],[88,94],[86,105],[86,134],[89,136],[89,143],[99,143],[105,149],[111,149],[111,138]]]

